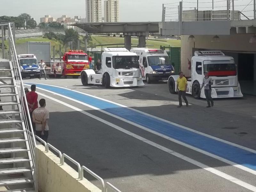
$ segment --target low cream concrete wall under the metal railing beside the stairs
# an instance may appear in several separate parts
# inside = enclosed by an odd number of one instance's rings
[[[67,164],[60,165],[59,157],[44,152],[44,146],[37,145],[36,175],[39,192],[100,192],[88,180],[77,180],[78,173]]]

